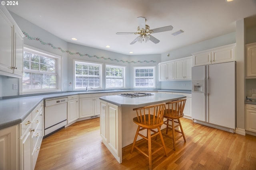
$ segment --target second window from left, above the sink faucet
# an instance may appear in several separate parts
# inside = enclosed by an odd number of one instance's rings
[[[86,87],[101,87],[101,67],[102,64],[86,63],[74,61],[75,64],[75,89],[85,89]]]

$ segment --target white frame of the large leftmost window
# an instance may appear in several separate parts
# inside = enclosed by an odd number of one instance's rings
[[[60,55],[56,55],[56,54],[53,54],[53,53],[50,53],[48,51],[44,51],[44,50],[41,50],[41,49],[37,49],[35,47],[31,47],[29,45],[25,45],[24,44],[24,47],[23,47],[23,52],[26,51],[28,53],[33,53],[33,54],[36,54],[36,55],[40,55],[42,57],[49,57],[49,58],[52,58],[52,59],[56,59],[56,89],[29,89],[29,90],[24,90],[23,89],[23,76],[22,78],[20,78],[20,81],[19,81],[19,94],[22,95],[22,94],[36,94],[36,93],[48,93],[48,92],[61,92],[63,91],[63,57],[60,56]],[[24,59],[22,58],[22,62],[24,62]],[[24,69],[24,64],[22,65],[23,66],[23,73],[24,72],[31,72],[31,73],[45,73],[45,72],[40,72],[39,70],[38,71],[33,71],[33,70],[28,70],[26,71]]]

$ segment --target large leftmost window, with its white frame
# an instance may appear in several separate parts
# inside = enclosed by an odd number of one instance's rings
[[[22,92],[61,91],[61,57],[24,47]]]

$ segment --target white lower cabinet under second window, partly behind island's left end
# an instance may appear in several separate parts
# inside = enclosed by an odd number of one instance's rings
[[[79,95],[79,118],[96,117],[100,115],[100,97],[106,93],[80,94]]]

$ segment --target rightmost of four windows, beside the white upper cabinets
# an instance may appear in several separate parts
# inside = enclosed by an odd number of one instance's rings
[[[155,67],[134,67],[134,88],[155,88]]]

